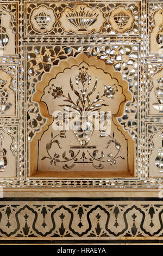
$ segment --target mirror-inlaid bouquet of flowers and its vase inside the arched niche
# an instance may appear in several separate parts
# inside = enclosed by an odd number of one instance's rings
[[[93,111],[99,111],[102,106],[108,106],[107,104],[103,103],[104,97],[108,97],[108,98],[111,97],[113,99],[115,92],[117,92],[116,85],[104,86],[104,89],[105,89],[104,93],[100,96],[98,92],[96,95],[96,98],[93,99],[91,102],[90,96],[92,93],[95,93],[95,91],[97,90],[97,78],[92,90],[90,92],[87,92],[89,90],[90,81],[91,81],[91,76],[87,74],[87,68],[84,68],[84,67],[79,68],[79,75],[76,76],[76,85],[79,85],[79,82],[81,82],[83,85],[83,88],[78,87],[79,90],[76,90],[76,88],[72,84],[72,79],[70,79],[70,88],[72,92],[76,94],[76,96],[78,97],[76,102],[74,102],[74,100],[71,98],[70,93],[68,93],[67,96],[65,96],[64,92],[62,91],[62,87],[55,86],[54,84],[52,84],[52,87],[49,88],[50,91],[48,91],[48,93],[53,96],[53,99],[63,97],[65,104],[59,105],[59,106],[62,106],[62,107],[67,106],[68,108],[71,109],[70,112],[73,112],[73,110],[76,110],[76,114],[78,114],[78,116],[82,118],[84,113],[87,113],[89,111],[93,113]],[[87,130],[85,133],[85,130],[81,131],[80,129],[80,136],[78,136],[77,132],[75,133],[78,139],[82,137],[82,139],[79,139],[79,142],[81,145],[87,145],[90,140],[92,131],[90,130],[90,136],[87,134],[87,132],[88,132]]]

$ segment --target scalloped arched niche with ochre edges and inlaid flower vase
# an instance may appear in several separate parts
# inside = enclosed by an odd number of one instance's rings
[[[52,67],[36,84],[33,101],[47,118],[29,146],[30,175],[35,177],[129,177],[134,174],[135,142],[118,123],[126,102],[132,100],[128,82],[114,67],[96,57],[79,53]],[[54,111],[64,113],[67,106],[74,114],[83,111],[110,111],[103,128],[54,130],[62,122]],[[81,114],[82,113],[82,114]],[[64,115],[64,124],[66,122]],[[97,116],[96,116],[97,117]],[[98,119],[98,118],[97,118]],[[88,121],[88,120],[86,120]],[[88,122],[88,126],[90,123]]]

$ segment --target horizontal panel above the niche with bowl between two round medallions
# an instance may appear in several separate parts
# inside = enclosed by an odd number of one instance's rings
[[[27,11],[26,11],[27,10]],[[140,2],[26,2],[27,35],[139,34]]]

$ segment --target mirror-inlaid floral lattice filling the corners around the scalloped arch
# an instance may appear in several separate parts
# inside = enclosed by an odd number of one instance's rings
[[[136,46],[135,46],[136,47]],[[135,48],[134,48],[135,49]],[[41,117],[37,103],[32,102],[32,94],[35,91],[35,84],[41,79],[43,73],[48,72],[52,66],[58,64],[61,59],[78,54],[78,47],[59,47],[55,46],[28,46],[28,82],[27,82],[27,99],[28,99],[28,136],[31,140],[35,132],[39,132],[46,118]],[[79,52],[82,49],[79,50]],[[84,50],[84,49],[83,49]],[[138,50],[138,49],[137,49]],[[137,87],[134,82],[137,68],[133,72],[133,67],[137,62],[137,52],[131,46],[105,46],[105,47],[90,47],[88,54],[97,56],[100,59],[105,59],[106,63],[114,64],[115,70],[121,70],[124,76],[127,76],[130,82],[130,91],[133,92],[133,102],[127,103],[127,113],[118,120],[136,138],[137,126],[135,117],[137,115]],[[38,57],[40,56],[40,57]],[[42,56],[42,57],[41,57]],[[118,56],[122,56],[119,61]],[[108,89],[108,88],[107,88]],[[55,88],[54,88],[55,90]],[[61,90],[61,89],[60,89]],[[56,93],[56,92],[54,92]]]

